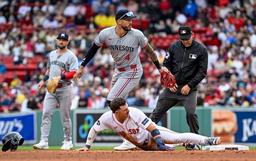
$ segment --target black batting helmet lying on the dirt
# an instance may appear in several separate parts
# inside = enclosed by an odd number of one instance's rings
[[[11,149],[11,151],[16,151],[18,145],[22,145],[24,142],[24,138],[18,132],[9,132],[5,134],[2,139],[2,151],[7,151]]]

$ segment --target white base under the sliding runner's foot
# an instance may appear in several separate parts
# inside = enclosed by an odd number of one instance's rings
[[[203,146],[202,150],[249,150],[249,146],[234,145],[234,144],[220,144]]]

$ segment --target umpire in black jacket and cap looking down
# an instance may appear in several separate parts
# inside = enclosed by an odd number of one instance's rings
[[[149,118],[158,123],[164,114],[181,102],[186,110],[186,119],[191,133],[198,134],[196,100],[198,83],[207,73],[208,52],[206,47],[195,41],[194,32],[189,25],[179,28],[179,39],[173,42],[164,58],[163,66],[176,78],[173,88],[165,88],[159,95],[156,108]]]

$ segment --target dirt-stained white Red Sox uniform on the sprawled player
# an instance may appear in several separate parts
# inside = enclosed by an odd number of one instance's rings
[[[183,143],[205,143],[206,136],[194,133],[174,132],[156,125],[140,109],[133,107],[128,107],[128,109],[130,110],[129,117],[127,117],[123,123],[120,123],[116,119],[112,111],[108,111],[101,115],[100,119],[94,123],[92,128],[94,128],[96,132],[106,129],[115,130],[119,135],[143,150],[158,150],[154,138],[151,136],[151,133],[146,130],[151,123],[160,131],[164,143],[172,148],[181,146]],[[87,137],[87,140],[90,140],[90,142],[91,139],[90,136]],[[88,142],[89,141],[86,142],[86,145],[91,146]]]

